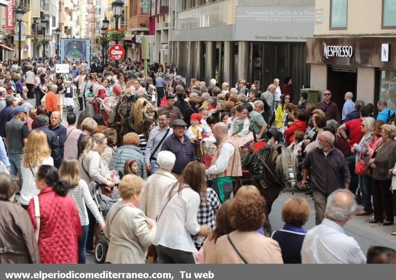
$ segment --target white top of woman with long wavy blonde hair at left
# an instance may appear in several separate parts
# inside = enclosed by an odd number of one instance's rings
[[[48,164],[53,166],[53,159],[48,157],[43,160],[42,164],[38,164],[36,167],[32,167],[32,169],[25,167],[23,165],[23,160],[21,161],[21,175],[23,178],[23,184],[21,189],[21,204],[29,205],[29,201],[34,197],[40,194],[39,189],[36,188],[36,173],[39,170],[41,165]],[[34,174],[34,175],[33,175]]]

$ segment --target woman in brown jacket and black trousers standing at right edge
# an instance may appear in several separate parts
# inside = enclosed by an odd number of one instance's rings
[[[384,220],[384,210],[386,221],[384,226],[394,224],[393,198],[392,198],[392,175],[389,170],[396,162],[396,127],[391,124],[384,124],[381,127],[382,144],[374,151],[370,162],[372,172],[374,220],[369,223],[382,223]]]

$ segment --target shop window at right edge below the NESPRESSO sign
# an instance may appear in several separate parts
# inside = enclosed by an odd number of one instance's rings
[[[396,71],[379,71],[379,98],[378,100],[385,100],[388,109],[396,111]]]

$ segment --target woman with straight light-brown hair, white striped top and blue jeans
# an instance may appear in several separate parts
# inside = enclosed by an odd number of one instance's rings
[[[98,206],[90,195],[87,182],[80,179],[78,161],[75,159],[65,159],[60,165],[59,176],[62,181],[65,181],[70,185],[70,189],[67,192],[69,197],[72,197],[76,202],[78,215],[80,216],[82,235],[78,238],[78,263],[86,263],[85,245],[87,242],[89,219],[87,207],[90,209],[92,214],[95,216],[96,221],[99,223],[99,227],[102,230],[104,228],[104,221],[99,213]]]

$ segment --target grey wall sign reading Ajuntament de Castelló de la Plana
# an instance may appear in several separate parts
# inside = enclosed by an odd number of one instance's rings
[[[315,6],[237,6],[235,40],[305,42],[315,25]]]

